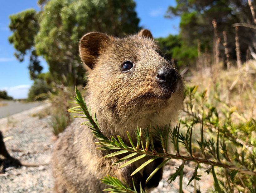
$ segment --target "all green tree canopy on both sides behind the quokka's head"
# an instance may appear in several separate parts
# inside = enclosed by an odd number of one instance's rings
[[[253,1],[256,7],[256,1]],[[9,28],[19,61],[27,55],[32,80],[44,83],[39,57],[43,57],[49,74],[58,84],[79,85],[85,82],[85,70],[79,58],[78,43],[83,34],[100,31],[122,37],[140,30],[133,0],[39,0],[40,11],[29,9],[10,16]],[[181,17],[180,33],[158,38],[163,55],[174,59],[177,66],[194,65],[198,49],[210,52],[214,45],[212,21],[216,20],[220,37],[220,57],[225,60],[223,31],[227,34],[230,59],[236,59],[234,23],[254,24],[247,0],[176,0],[166,17]],[[198,47],[198,43],[200,46]],[[255,30],[239,27],[241,57],[245,60],[248,46],[256,45]],[[172,60],[173,61],[173,60]]]

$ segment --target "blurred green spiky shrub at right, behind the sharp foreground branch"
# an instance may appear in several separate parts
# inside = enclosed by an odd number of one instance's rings
[[[245,118],[236,111],[236,107],[230,107],[221,101],[218,92],[218,84],[211,95],[204,90],[197,91],[197,86],[187,87],[185,92],[185,119],[181,122],[185,127],[201,125],[201,137],[207,135],[207,140],[197,141],[204,154],[210,155],[215,160],[241,168],[237,170],[223,170],[218,172],[220,187],[215,188],[224,192],[256,191],[256,177],[248,171],[256,171],[256,121],[253,118]],[[209,96],[207,96],[207,93]],[[239,175],[236,175],[239,172]],[[250,174],[250,175],[246,175]],[[225,181],[223,181],[225,179]]]

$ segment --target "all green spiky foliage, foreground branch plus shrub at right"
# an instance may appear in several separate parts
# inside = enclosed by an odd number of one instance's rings
[[[234,189],[244,191],[245,189],[255,192],[255,178],[256,178],[256,164],[255,153],[256,147],[254,143],[253,132],[255,132],[256,122],[255,120],[244,121],[235,123],[231,119],[231,115],[234,114],[234,108],[226,107],[222,110],[225,119],[220,119],[217,109],[208,104],[206,91],[198,93],[197,87],[187,88],[186,100],[184,111],[188,114],[184,120],[181,120],[174,129],[170,129],[169,126],[163,128],[150,126],[146,130],[139,127],[135,131],[137,139],[137,145],[135,146],[132,141],[132,137],[127,131],[127,137],[130,144],[125,144],[120,136],[116,138],[114,136],[104,136],[100,131],[99,124],[96,119],[96,115],[92,116],[90,108],[85,104],[83,96],[76,88],[75,103],[80,106],[71,108],[69,112],[80,113],[85,116],[76,116],[86,118],[88,121],[82,124],[87,125],[94,136],[99,140],[96,143],[99,147],[97,149],[116,149],[117,151],[104,158],[110,158],[116,155],[128,153],[122,159],[119,159],[116,163],[123,163],[119,168],[123,168],[131,163],[138,161],[139,159],[148,157],[149,159],[139,166],[132,174],[136,174],[142,168],[147,166],[155,159],[166,158],[157,168],[149,175],[146,182],[160,169],[162,166],[171,159],[181,159],[182,164],[176,168],[176,172],[169,178],[170,183],[180,177],[180,192],[182,192],[182,177],[183,169],[186,162],[195,162],[196,167],[194,173],[189,181],[200,180],[200,175],[197,174],[199,165],[206,164],[208,168],[206,172],[212,173],[215,182],[215,191],[217,192],[234,192]],[[220,103],[220,101],[218,101]],[[227,110],[228,109],[228,110]],[[181,124],[184,125],[186,132],[181,132]],[[196,142],[192,141],[193,127],[199,126],[201,139]],[[204,131],[209,130],[212,134],[212,138],[206,140],[204,138]],[[153,135],[152,135],[153,134]],[[239,137],[239,140],[237,140]],[[163,153],[157,152],[154,148],[154,140],[159,140],[162,144]],[[167,152],[167,142],[170,139],[174,146],[175,153],[171,154]],[[143,144],[146,141],[146,144]],[[229,145],[235,145],[235,148],[229,148]],[[181,148],[185,147],[188,155],[181,154]],[[184,149],[184,148],[183,148]],[[199,149],[200,156],[194,156],[194,149]],[[197,152],[197,154],[199,153]],[[218,168],[218,170],[217,170]],[[224,172],[219,168],[222,168]],[[134,192],[137,190],[135,187],[129,187],[125,182],[119,181],[115,177],[104,177],[101,181],[105,184],[112,186],[112,188],[105,189],[109,192]],[[189,184],[188,183],[188,184]],[[143,192],[141,189],[140,192]]]

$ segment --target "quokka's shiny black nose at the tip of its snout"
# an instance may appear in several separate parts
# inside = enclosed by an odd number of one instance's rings
[[[177,81],[176,71],[174,69],[164,69],[157,73],[157,81],[167,86],[172,86]]]

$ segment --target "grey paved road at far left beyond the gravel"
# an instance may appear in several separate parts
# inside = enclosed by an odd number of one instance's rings
[[[2,100],[0,101],[0,103],[4,104],[3,106],[0,104],[0,119],[16,113],[20,113],[22,111],[26,111],[30,108],[33,108],[42,104],[42,102],[22,103],[22,102],[12,101],[12,100],[9,100],[9,101]]]

